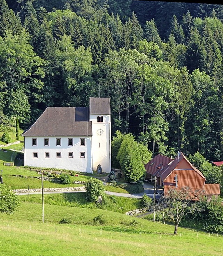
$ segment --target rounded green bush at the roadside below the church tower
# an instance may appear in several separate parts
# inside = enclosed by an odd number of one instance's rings
[[[103,198],[105,186],[101,180],[90,178],[86,185],[86,198],[90,202],[98,202],[99,197]]]

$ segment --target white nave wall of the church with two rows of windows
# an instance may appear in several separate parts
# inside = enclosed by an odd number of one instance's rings
[[[37,139],[37,146],[32,145],[32,139]],[[44,146],[44,139],[49,139],[49,146]],[[56,146],[56,138],[61,138],[61,146]],[[73,146],[68,146],[68,138],[73,139]],[[80,138],[84,138],[85,145],[80,145]],[[58,168],[73,171],[92,172],[92,138],[91,136],[37,136],[24,138],[25,166]],[[45,158],[45,152],[49,152],[49,158]],[[57,152],[61,152],[61,158],[57,157]],[[73,152],[73,157],[69,157],[69,152]],[[80,152],[85,152],[85,157],[80,157]],[[37,153],[37,158],[33,158],[33,153]]]

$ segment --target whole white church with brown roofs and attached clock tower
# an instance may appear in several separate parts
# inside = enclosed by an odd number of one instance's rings
[[[109,173],[110,98],[90,98],[89,108],[48,107],[22,136],[25,166]]]

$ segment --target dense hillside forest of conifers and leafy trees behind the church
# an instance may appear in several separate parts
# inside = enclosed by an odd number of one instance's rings
[[[223,160],[223,6],[0,0],[0,130],[110,97],[112,131]]]

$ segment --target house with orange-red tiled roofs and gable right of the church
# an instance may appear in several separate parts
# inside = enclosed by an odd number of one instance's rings
[[[157,178],[157,186],[163,186],[164,195],[171,188],[181,189],[190,187],[192,191],[203,191],[207,200],[220,195],[219,184],[205,184],[206,178],[195,168],[182,152],[178,152],[174,159],[163,155],[156,155],[145,164],[147,179]]]

